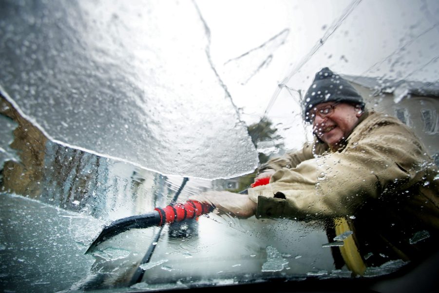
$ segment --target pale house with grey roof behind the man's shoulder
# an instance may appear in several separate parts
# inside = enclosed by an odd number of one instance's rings
[[[367,108],[411,127],[439,165],[439,82],[342,76],[363,96]]]

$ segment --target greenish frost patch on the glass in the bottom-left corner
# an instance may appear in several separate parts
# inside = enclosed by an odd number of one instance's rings
[[[1,200],[3,290],[56,292],[89,274],[94,260],[83,243],[100,227],[95,218],[17,195]]]

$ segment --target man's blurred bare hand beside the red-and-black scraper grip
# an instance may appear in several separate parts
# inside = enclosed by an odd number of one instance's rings
[[[210,191],[193,195],[189,199],[209,203],[215,206],[219,214],[248,218],[256,213],[256,203],[248,195],[228,191]]]

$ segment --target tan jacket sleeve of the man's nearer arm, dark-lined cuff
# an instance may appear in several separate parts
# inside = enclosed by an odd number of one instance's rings
[[[419,166],[426,157],[409,129],[386,121],[359,132],[342,152],[279,169],[270,184],[251,188],[256,216],[303,220],[353,215],[368,198],[421,180]]]

